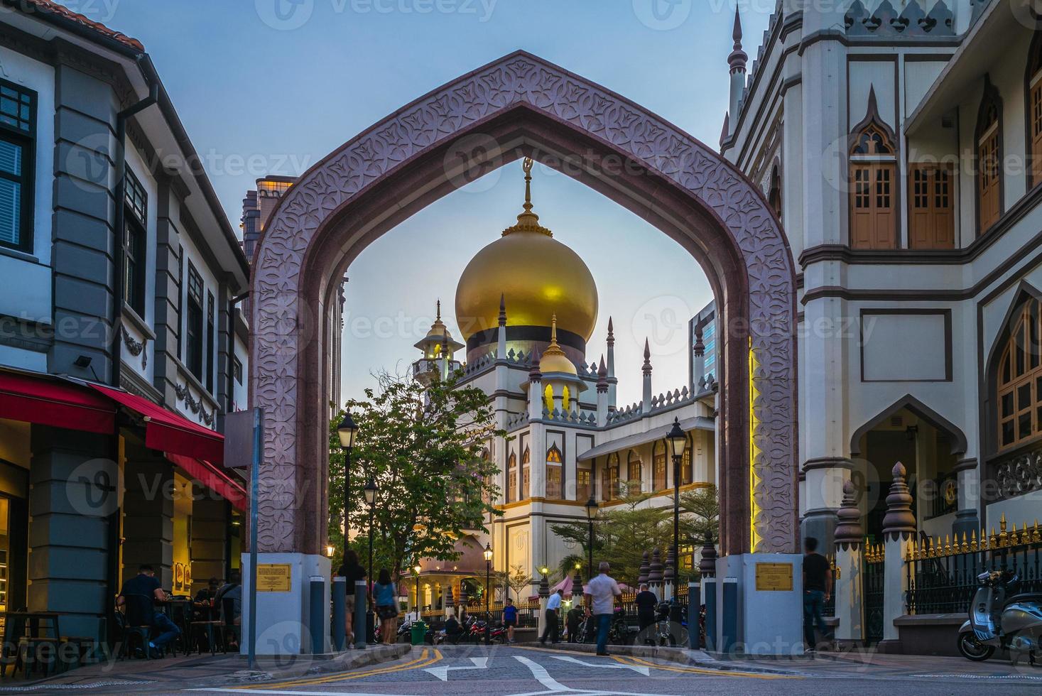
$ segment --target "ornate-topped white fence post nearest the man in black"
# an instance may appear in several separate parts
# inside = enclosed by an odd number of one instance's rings
[[[853,481],[843,483],[843,503],[836,513],[836,647],[849,650],[865,641],[865,598],[862,591],[862,552],[865,530]]]

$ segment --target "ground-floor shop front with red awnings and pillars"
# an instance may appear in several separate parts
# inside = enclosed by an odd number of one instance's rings
[[[227,578],[247,500],[222,462],[220,433],[144,397],[0,369],[0,617],[104,641],[139,566],[173,595]]]

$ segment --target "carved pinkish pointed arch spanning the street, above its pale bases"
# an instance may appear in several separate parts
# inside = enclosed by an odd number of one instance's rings
[[[723,551],[795,552],[796,280],[777,220],[717,152],[525,52],[338,148],[286,193],[258,240],[250,348],[251,395],[266,412],[258,550],[317,554],[325,541],[329,346],[343,272],[402,220],[522,156],[648,220],[700,264],[722,327]]]

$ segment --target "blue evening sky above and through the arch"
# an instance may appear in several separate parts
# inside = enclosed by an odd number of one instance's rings
[[[715,147],[727,108],[735,0],[68,0],[144,42],[233,225],[264,173],[297,175],[416,97],[517,49],[622,94]],[[773,0],[741,0],[755,55]],[[452,306],[467,262],[519,212],[520,166],[443,198],[348,271],[344,393],[415,358],[436,299]],[[683,325],[712,299],[694,260],[655,228],[551,170],[536,210],[584,256],[600,318],[615,317],[620,402],[640,398],[652,334],[654,391],[686,381]],[[685,313],[688,316],[683,316]],[[395,329],[369,325],[393,320]],[[447,317],[449,325],[451,312]],[[374,324],[375,323],[375,324]],[[426,326],[423,326],[424,330]],[[397,362],[401,361],[400,366]]]

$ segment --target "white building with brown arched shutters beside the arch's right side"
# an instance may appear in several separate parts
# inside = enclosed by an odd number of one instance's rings
[[[800,266],[804,536],[841,482],[879,539],[896,461],[920,532],[1042,517],[1042,40],[1029,3],[782,0],[721,152]],[[1011,352],[1012,351],[1012,352]]]

